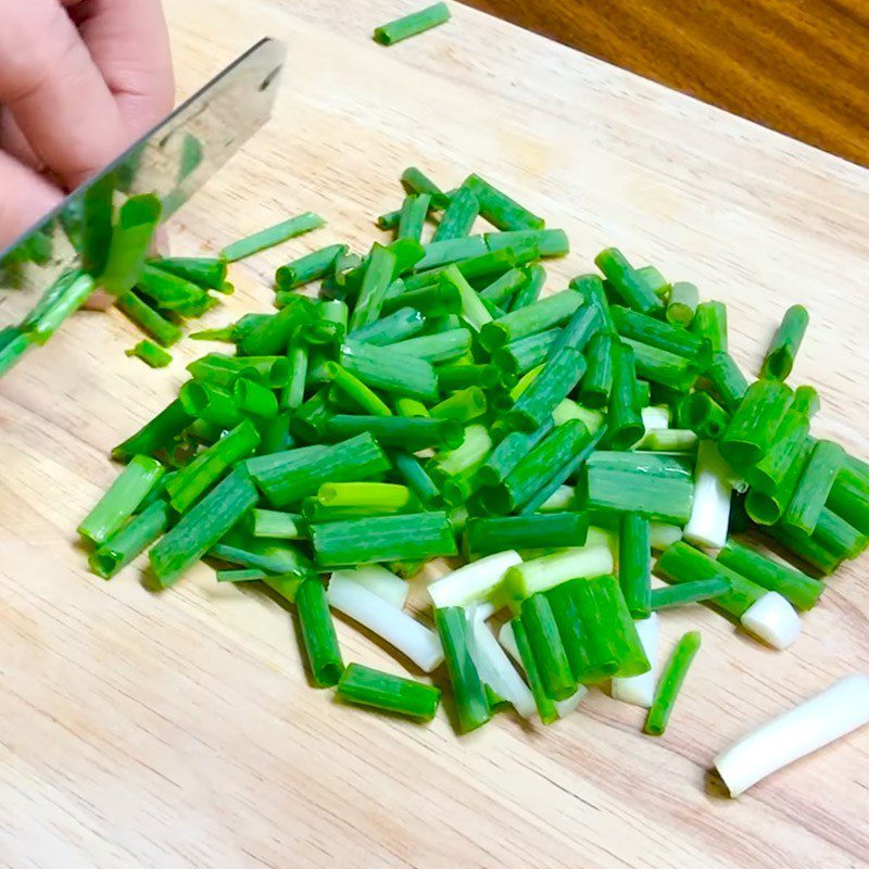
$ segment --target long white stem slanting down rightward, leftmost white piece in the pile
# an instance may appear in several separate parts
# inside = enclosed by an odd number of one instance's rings
[[[406,655],[421,670],[431,672],[443,660],[438,634],[388,604],[354,580],[332,575],[326,596],[339,613],[350,616]]]

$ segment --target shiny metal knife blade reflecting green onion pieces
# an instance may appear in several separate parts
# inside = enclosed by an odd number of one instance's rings
[[[124,198],[160,198],[167,219],[207,181],[272,115],[287,49],[263,39],[196,96],[133,144],[51,214],[0,251],[0,357],[4,342],[22,339],[20,325],[52,285],[83,267],[83,227],[89,191]],[[3,374],[0,363],[0,376]]]

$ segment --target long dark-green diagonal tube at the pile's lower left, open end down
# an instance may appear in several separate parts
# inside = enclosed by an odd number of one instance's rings
[[[175,584],[256,501],[256,488],[239,470],[215,487],[149,553],[160,584]]]

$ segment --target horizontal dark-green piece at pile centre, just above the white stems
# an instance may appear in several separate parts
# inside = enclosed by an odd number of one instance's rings
[[[465,550],[474,556],[506,550],[578,547],[585,543],[584,513],[471,518],[465,527]]]

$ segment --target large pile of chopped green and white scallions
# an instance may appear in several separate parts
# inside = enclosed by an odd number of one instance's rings
[[[785,383],[808,315],[785,313],[750,382],[725,305],[693,285],[608,249],[600,275],[545,294],[564,231],[476,175],[402,184],[378,221],[391,243],[301,256],[277,272],[277,313],[193,336],[229,351],[115,448],[126,468],[79,528],[90,565],[109,579],[149,550],[163,588],[202,558],[265,583],[297,607],[313,683],[350,703],[428,720],[440,691],[345,664],[331,609],[414,670],[444,664],[461,732],[507,706],[549,725],[612,681],[663,733],[701,641],[658,676],[658,610],[703,603],[783,648],[817,577],[867,546],[869,466],[814,438],[816,391]],[[227,261],[322,225],[124,284],[207,294]],[[408,614],[406,578],[443,557],[431,613]]]

